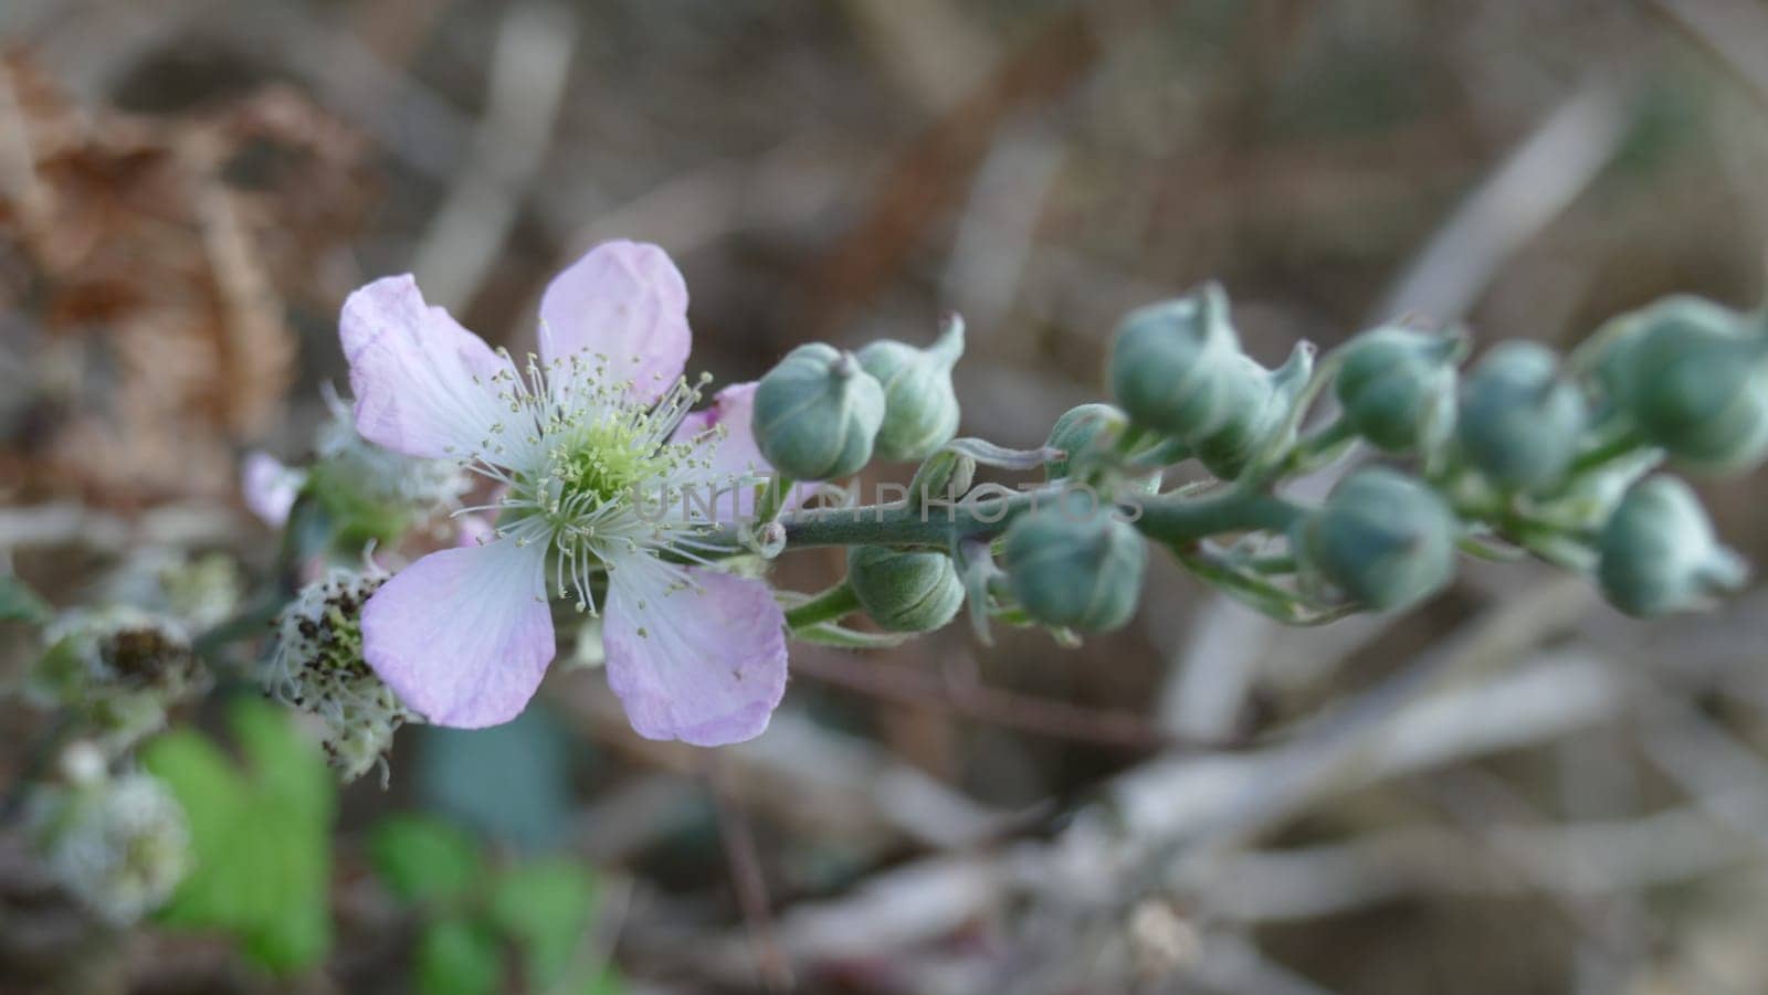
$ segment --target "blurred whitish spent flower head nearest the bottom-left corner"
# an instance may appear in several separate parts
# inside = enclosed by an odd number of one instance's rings
[[[111,774],[90,742],[64,751],[60,781],[32,790],[28,824],[55,880],[115,926],[164,905],[191,868],[189,827],[171,792],[149,774]]]

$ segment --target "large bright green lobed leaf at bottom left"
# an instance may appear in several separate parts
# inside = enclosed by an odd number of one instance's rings
[[[316,744],[281,709],[240,698],[228,725],[244,769],[193,730],[141,751],[191,827],[193,870],[161,923],[230,933],[258,965],[295,972],[331,944],[336,790]]]

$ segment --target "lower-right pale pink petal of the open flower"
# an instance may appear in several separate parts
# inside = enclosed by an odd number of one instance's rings
[[[723,746],[755,739],[785,693],[785,615],[758,580],[693,569],[668,590],[610,574],[608,686],[645,739]]]

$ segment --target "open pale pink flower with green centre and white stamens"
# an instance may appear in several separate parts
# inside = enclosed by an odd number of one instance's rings
[[[460,460],[502,493],[467,509],[495,514],[490,537],[430,553],[362,610],[362,654],[401,702],[446,726],[514,718],[553,657],[552,592],[603,615],[608,684],[640,735],[716,746],[767,728],[785,617],[764,581],[709,569],[727,550],[705,541],[767,472],[753,387],[690,414],[688,288],[668,254],[608,242],[559,274],[525,371],[410,276],[352,293],[341,341],[362,437]]]

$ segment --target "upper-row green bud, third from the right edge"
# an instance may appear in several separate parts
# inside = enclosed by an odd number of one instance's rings
[[[1455,366],[1462,336],[1402,327],[1363,332],[1344,346],[1333,384],[1344,417],[1388,452],[1432,452],[1455,431]]]

